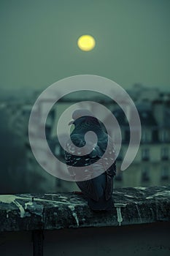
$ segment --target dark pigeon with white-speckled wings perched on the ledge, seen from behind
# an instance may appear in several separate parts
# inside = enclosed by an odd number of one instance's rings
[[[77,186],[88,199],[88,206],[91,210],[110,211],[113,208],[113,178],[116,174],[115,148],[112,139],[107,134],[104,124],[89,110],[75,110],[72,118],[69,125],[74,124],[74,130],[70,135],[70,140],[66,142],[65,151],[69,173],[75,178]],[[97,136],[95,145],[90,145],[91,141],[85,141],[85,134],[89,131]],[[92,146],[92,151],[85,154],[83,146],[87,148]],[[104,157],[107,147],[108,154]],[[85,175],[82,180],[82,176],[79,177],[79,167],[84,167]],[[93,178],[93,173],[99,172],[100,174]]]

